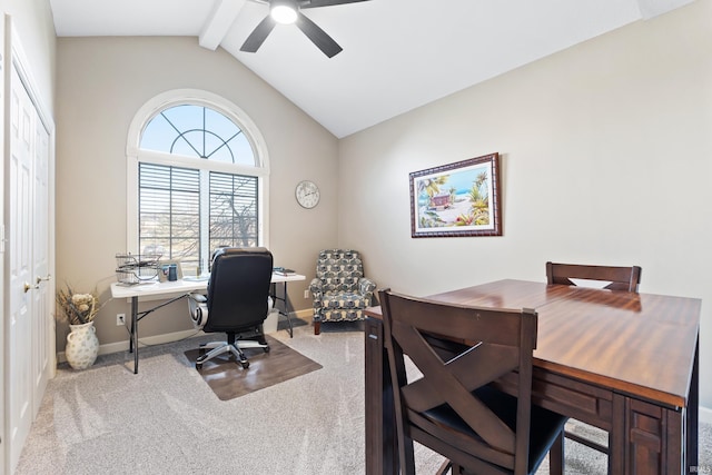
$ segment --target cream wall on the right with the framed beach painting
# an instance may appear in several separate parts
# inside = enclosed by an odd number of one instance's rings
[[[546,260],[640,265],[641,291],[703,299],[712,408],[711,46],[698,0],[342,139],[339,245],[414,295],[545,281]],[[408,174],[494,151],[504,236],[411,238]]]

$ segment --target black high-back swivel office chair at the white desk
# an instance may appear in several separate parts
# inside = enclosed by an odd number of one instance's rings
[[[208,359],[231,353],[243,366],[249,362],[241,348],[263,348],[269,345],[263,323],[270,311],[269,287],[273,257],[265,248],[220,248],[212,257],[207,296],[191,294],[189,310],[194,325],[207,333],[224,331],[226,342],[200,345],[196,368]],[[209,353],[205,353],[209,349]]]

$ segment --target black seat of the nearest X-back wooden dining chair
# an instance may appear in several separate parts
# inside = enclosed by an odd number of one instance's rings
[[[512,431],[516,431],[516,404],[514,396],[502,393],[491,387],[482,387],[473,394],[479,398],[492,412],[494,412]],[[479,436],[457,415],[449,405],[444,404],[424,413],[434,424],[446,426],[468,438],[479,439]],[[567,417],[553,413],[541,406],[532,404],[530,428],[530,458],[528,472],[535,473],[542,464],[548,449],[561,434]],[[458,447],[467,452],[467,447]]]

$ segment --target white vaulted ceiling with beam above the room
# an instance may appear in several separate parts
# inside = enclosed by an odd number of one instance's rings
[[[239,51],[255,0],[50,0],[59,37],[189,36],[218,46],[336,137],[693,0],[368,0],[303,12],[343,48],[328,59],[296,26]]]

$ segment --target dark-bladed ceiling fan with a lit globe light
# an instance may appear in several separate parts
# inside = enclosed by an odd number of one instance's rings
[[[342,47],[323,29],[309,20],[300,10],[306,8],[330,7],[336,4],[356,3],[368,0],[253,0],[269,6],[269,14],[257,24],[247,37],[240,51],[256,52],[267,39],[277,23],[296,23],[304,34],[312,40],[329,58],[338,55]]]

